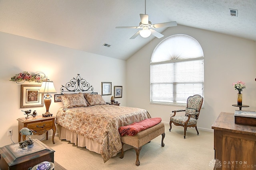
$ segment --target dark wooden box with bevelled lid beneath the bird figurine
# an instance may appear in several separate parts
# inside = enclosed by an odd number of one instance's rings
[[[54,150],[33,139],[34,144],[23,149],[19,143],[0,148],[0,170],[31,170],[40,162],[54,162]]]

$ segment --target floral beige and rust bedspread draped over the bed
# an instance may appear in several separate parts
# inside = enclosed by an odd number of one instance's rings
[[[145,110],[134,107],[96,105],[58,109],[56,123],[62,127],[101,144],[104,162],[122,149],[118,128],[151,118]]]

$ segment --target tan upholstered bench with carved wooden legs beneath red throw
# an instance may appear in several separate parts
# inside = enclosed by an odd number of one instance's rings
[[[159,135],[162,135],[162,147],[164,147],[164,123],[160,122],[157,125],[154,125],[153,127],[150,127],[144,131],[140,131],[134,136],[128,136],[124,135],[121,136],[122,145],[128,144],[134,147],[136,151],[136,162],[135,164],[137,166],[140,165],[139,155],[140,150],[143,145],[146,143],[149,143],[152,139],[158,137]],[[124,158],[124,149],[122,147],[121,149],[121,155],[119,156],[121,159]]]

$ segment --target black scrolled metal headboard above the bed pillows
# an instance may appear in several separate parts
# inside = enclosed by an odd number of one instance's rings
[[[91,94],[98,94],[93,92],[94,88],[90,83],[88,83],[84,78],[81,78],[80,74],[77,74],[76,78],[72,78],[69,82],[66,83],[66,86],[60,88],[60,94],[54,95],[54,102],[61,102],[60,96],[64,93],[79,93],[79,92],[88,92]]]

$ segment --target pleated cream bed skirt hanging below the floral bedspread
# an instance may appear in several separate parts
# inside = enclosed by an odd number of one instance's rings
[[[69,131],[68,129],[58,124],[56,124],[56,127],[60,140],[70,141],[70,143],[74,143],[74,145],[78,147],[86,147],[86,149],[100,154],[101,145],[99,143],[92,141],[81,135],[78,135],[77,133],[74,133],[72,131]],[[133,148],[131,145],[124,144],[124,150],[128,150],[131,148]],[[119,152],[121,152],[121,150],[116,152],[116,154],[118,154]],[[116,156],[116,154],[114,154],[113,156]]]

